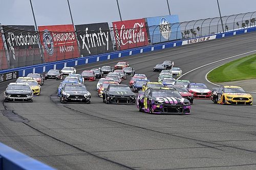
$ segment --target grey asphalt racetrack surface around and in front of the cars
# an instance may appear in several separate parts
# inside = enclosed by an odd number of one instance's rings
[[[256,50],[255,37],[256,33],[248,33],[87,64],[77,70],[114,66],[124,60],[136,73],[156,81],[158,73],[153,67],[157,63],[173,60],[185,73]],[[214,85],[205,80],[207,72],[239,57],[202,67],[182,79],[212,88]],[[1,84],[2,95],[8,83]],[[196,100],[191,115],[152,115],[139,112],[135,105],[102,103],[95,90],[96,81],[86,82],[92,93],[91,104],[61,104],[57,98],[59,83],[46,81],[33,103],[2,102],[0,141],[57,169],[256,168],[255,106]]]

